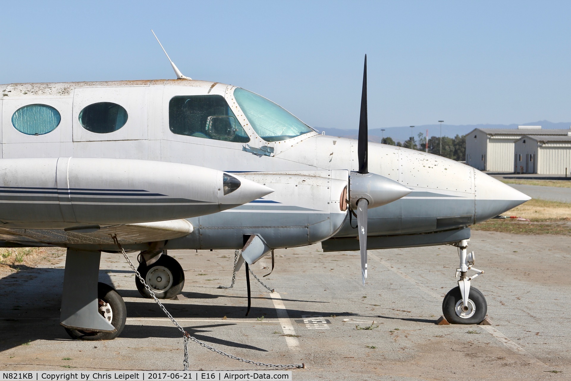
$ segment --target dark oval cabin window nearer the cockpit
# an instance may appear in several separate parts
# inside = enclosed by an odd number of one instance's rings
[[[116,103],[93,103],[79,113],[79,124],[87,131],[108,134],[119,130],[127,123],[127,111]]]

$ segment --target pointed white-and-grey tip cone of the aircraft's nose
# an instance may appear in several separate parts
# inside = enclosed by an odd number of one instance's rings
[[[475,223],[493,218],[531,199],[530,196],[485,173],[480,171],[474,173]]]

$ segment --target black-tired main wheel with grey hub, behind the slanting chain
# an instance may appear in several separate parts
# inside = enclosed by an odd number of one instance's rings
[[[141,263],[137,271],[159,299],[170,299],[180,294],[184,287],[184,271],[180,263],[172,256],[161,255],[150,266]],[[135,277],[135,284],[144,298],[151,298],[150,292],[144,287],[139,277]]]

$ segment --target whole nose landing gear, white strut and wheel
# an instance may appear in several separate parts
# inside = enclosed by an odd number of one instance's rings
[[[474,252],[467,253],[468,239],[454,244],[458,247],[460,255],[460,268],[456,270],[456,277],[460,276],[458,286],[448,291],[442,302],[444,318],[452,324],[478,324],[486,317],[488,303],[484,295],[475,287],[471,287],[471,281],[484,271],[474,268]],[[468,270],[476,271],[476,274],[468,276]]]

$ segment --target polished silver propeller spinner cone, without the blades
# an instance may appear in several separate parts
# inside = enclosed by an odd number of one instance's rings
[[[353,208],[361,198],[367,199],[369,208],[375,208],[396,201],[412,192],[404,185],[374,173],[351,172],[349,200]]]

